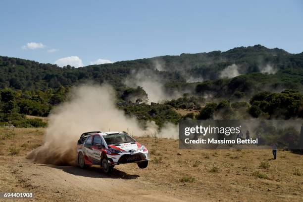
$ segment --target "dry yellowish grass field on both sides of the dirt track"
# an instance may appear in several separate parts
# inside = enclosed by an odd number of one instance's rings
[[[9,138],[5,135],[0,139],[0,170],[41,145],[45,129],[0,128],[1,135],[3,131]],[[302,200],[298,193],[302,193],[303,155],[278,150],[278,158],[268,161],[272,158],[271,150],[253,150],[253,153],[248,150],[179,150],[178,141],[173,139],[137,139],[153,151],[152,160],[146,169],[138,169],[136,164],[116,166],[115,169],[125,175],[139,176],[128,179],[128,183],[143,183],[155,192],[172,193],[188,201],[193,197],[194,201]],[[9,148],[20,150],[17,155],[9,155]],[[239,158],[230,158],[234,156]],[[1,183],[3,187],[8,186],[8,181]]]

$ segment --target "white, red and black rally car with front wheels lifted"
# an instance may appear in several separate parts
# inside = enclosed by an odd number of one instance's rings
[[[81,168],[100,165],[105,173],[115,165],[137,163],[139,168],[148,166],[148,149],[122,132],[87,132],[80,136],[77,145],[78,164]]]

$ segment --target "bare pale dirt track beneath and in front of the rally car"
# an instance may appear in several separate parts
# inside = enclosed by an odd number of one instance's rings
[[[38,201],[185,201],[165,192],[149,190],[147,184],[136,180],[138,175],[116,169],[107,175],[98,167],[83,170],[73,166],[34,164],[19,157],[7,170],[21,187],[34,192]]]

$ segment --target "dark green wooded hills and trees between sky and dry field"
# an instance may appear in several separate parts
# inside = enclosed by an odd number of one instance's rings
[[[229,67],[237,67],[236,74],[222,76]],[[142,86],[125,83],[140,71],[162,83],[167,94],[178,91],[183,96],[147,104],[149,95]],[[0,122],[44,126],[24,115],[48,116],[71,86],[88,81],[109,83],[126,115],[153,120],[159,126],[187,118],[303,118],[303,53],[255,45],[79,68],[0,56]],[[136,99],[130,101],[130,97]],[[200,113],[182,117],[174,108]]]

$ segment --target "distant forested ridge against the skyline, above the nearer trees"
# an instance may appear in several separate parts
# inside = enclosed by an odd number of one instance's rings
[[[180,56],[160,56],[150,59],[122,61],[114,64],[92,65],[87,67],[57,67],[18,58],[0,57],[0,88],[12,87],[21,90],[48,88],[60,85],[67,87],[85,80],[97,83],[108,82],[117,89],[126,87],[123,80],[132,70],[151,69],[168,83],[185,83],[188,77],[217,79],[225,67],[240,65],[243,73],[258,72],[259,67],[270,64],[278,74],[248,74],[261,82],[286,87],[302,87],[303,53],[289,54],[282,49],[268,49],[261,45],[234,48],[226,52],[181,54]],[[227,80],[226,82],[230,82]],[[293,86],[291,86],[293,83]]]

